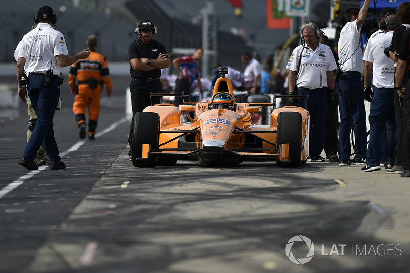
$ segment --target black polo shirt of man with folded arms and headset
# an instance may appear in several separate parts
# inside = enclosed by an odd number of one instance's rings
[[[138,38],[128,47],[129,61],[136,58],[150,58],[157,59],[160,53],[167,54],[165,47],[156,40],[151,39],[149,44],[145,44]],[[159,78],[161,76],[161,70],[159,68],[150,71],[138,71],[132,68],[130,63],[131,77],[140,78]]]

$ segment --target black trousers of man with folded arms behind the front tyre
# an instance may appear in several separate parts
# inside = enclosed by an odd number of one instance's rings
[[[154,82],[141,81],[132,79],[130,83],[132,120],[130,126],[130,134],[128,136],[128,144],[132,147],[132,135],[134,134],[134,116],[137,112],[142,112],[147,106],[158,104],[161,97],[150,98],[150,93],[161,93],[162,83],[160,80]],[[151,101],[152,100],[152,101]],[[128,152],[131,156],[131,149]]]

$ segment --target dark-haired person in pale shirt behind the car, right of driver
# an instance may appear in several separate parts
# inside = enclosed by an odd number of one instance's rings
[[[249,92],[250,95],[255,95],[259,93],[260,89],[260,78],[262,75],[262,66],[259,61],[252,58],[251,54],[244,52],[241,56],[243,64],[247,67],[245,68],[244,84],[245,90]]]

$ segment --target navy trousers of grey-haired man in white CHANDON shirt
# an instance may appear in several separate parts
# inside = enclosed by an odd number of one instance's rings
[[[298,88],[298,96],[306,95],[309,96],[308,99],[299,99],[298,106],[308,110],[310,115],[309,156],[319,156],[324,146],[327,88]]]

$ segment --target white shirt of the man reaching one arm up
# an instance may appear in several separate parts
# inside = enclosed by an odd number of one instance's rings
[[[361,28],[357,28],[356,20],[354,20],[347,22],[340,31],[337,49],[339,52],[340,69],[342,71],[363,72],[363,51],[360,46]]]

